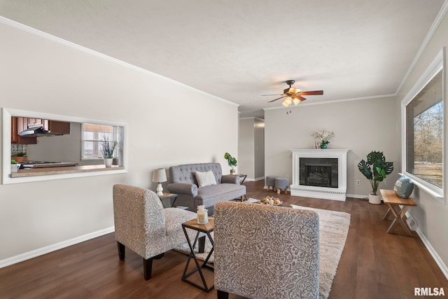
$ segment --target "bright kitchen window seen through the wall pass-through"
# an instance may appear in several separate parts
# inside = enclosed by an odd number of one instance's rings
[[[120,160],[120,145],[122,144],[123,140],[123,127],[83,123],[82,130],[83,160],[103,158],[102,142],[104,140],[116,142],[116,148],[113,152],[113,158],[118,158]]]

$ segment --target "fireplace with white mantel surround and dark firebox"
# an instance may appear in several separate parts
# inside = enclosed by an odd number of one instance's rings
[[[349,150],[292,150],[291,195],[345,200],[346,154]]]

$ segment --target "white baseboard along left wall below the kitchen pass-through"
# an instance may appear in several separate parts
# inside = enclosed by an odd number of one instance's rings
[[[90,232],[87,235],[82,235],[79,237],[75,237],[73,239],[68,239],[66,241],[62,241],[56,244],[51,244],[39,249],[35,249],[33,251],[25,252],[19,254],[18,256],[12,256],[10,258],[5,258],[4,260],[0,260],[0,268],[6,267],[8,265],[13,265],[15,263],[20,263],[23,260],[29,260],[30,258],[36,258],[36,256],[42,256],[43,254],[50,253],[52,251],[57,251],[59,249],[78,244],[80,242],[87,241],[88,239],[93,239],[96,237],[100,237],[102,235],[109,234],[115,231],[115,227],[111,226],[110,228],[105,228],[104,230],[97,230],[96,232]]]

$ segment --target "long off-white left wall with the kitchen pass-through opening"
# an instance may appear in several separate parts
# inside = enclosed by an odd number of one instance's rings
[[[225,171],[225,151],[237,153],[236,104],[6,23],[0,106],[127,123],[129,163],[127,174],[1,185],[0,265],[110,229],[114,183],[155,190],[153,169],[220,162]]]

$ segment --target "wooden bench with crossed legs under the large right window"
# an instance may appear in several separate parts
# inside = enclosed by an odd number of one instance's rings
[[[379,192],[381,193],[381,197],[383,197],[384,203],[389,207],[383,219],[387,220],[391,213],[393,214],[393,216],[395,216],[395,219],[393,219],[393,222],[391,226],[389,226],[387,232],[390,233],[392,228],[400,223],[407,235],[409,235],[409,237],[412,237],[412,232],[411,230],[409,230],[409,227],[407,226],[407,223],[405,221],[405,214],[409,207],[416,207],[417,204],[410,198],[406,199],[398,197],[398,195],[395,194],[394,190],[380,189]],[[400,205],[402,207],[400,207]]]

